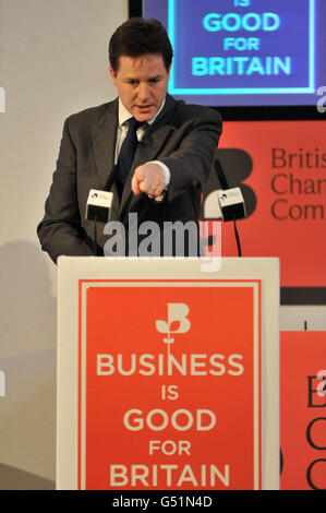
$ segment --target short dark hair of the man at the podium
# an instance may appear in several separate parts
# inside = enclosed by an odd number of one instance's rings
[[[141,57],[146,53],[161,55],[169,71],[173,50],[167,31],[158,20],[131,17],[122,23],[109,43],[109,60],[114,73],[121,56]]]

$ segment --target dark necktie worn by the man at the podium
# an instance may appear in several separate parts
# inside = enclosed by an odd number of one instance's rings
[[[122,143],[118,159],[117,186],[120,194],[123,190],[125,180],[128,178],[130,168],[135,156],[135,152],[138,144],[136,131],[142,123],[135,118],[130,118],[128,124],[128,132]]]

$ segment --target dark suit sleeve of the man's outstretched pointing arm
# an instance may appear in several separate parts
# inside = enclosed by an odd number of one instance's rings
[[[222,120],[219,112],[200,107],[197,116],[189,119],[182,127],[177,150],[166,157],[159,157],[170,171],[168,187],[170,201],[186,189],[203,188],[209,175],[221,131]],[[177,129],[173,144],[176,139],[178,140],[178,133]]]

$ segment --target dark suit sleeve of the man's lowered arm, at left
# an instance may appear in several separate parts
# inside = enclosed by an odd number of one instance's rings
[[[37,235],[41,249],[49,253],[55,263],[58,256],[63,254],[93,254],[86,234],[81,228],[76,192],[76,151],[69,132],[69,119],[64,122],[57,169]]]

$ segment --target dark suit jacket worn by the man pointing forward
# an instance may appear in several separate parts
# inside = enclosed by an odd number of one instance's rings
[[[94,254],[94,223],[85,219],[85,206],[89,189],[106,189],[114,168],[117,124],[118,98],[65,120],[45,216],[37,227],[41,248],[53,262],[61,254]],[[202,187],[220,133],[221,118],[217,111],[176,102],[167,95],[164,109],[138,145],[121,200],[114,186],[111,189],[114,192],[111,220],[126,223],[128,214],[133,212],[137,213],[138,224],[197,222]],[[171,174],[161,202],[144,193],[134,195],[131,190],[134,169],[154,159],[165,163]],[[97,224],[98,254],[102,254],[108,238],[104,225]]]

